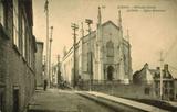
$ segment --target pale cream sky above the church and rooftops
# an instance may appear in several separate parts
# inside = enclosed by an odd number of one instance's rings
[[[37,41],[45,43],[44,2],[33,0],[33,33]],[[103,23],[111,20],[117,24],[121,10],[124,36],[127,30],[129,32],[133,71],[145,63],[150,68],[159,66],[160,51],[165,63],[177,69],[177,0],[49,0],[49,24],[53,26],[52,63],[56,61],[58,54],[62,57],[64,46],[70,49],[73,44],[71,23],[81,27],[81,22],[92,19],[92,30],[95,30],[98,7]],[[86,29],[84,23],[85,34]],[[76,33],[79,40],[80,30]]]

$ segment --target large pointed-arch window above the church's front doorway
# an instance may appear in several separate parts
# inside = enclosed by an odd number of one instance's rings
[[[108,57],[113,57],[114,56],[114,43],[112,41],[108,41],[106,43],[106,52],[107,52],[107,56]]]

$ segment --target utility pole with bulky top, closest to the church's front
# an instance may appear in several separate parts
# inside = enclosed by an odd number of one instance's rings
[[[93,69],[92,69],[92,51],[91,51],[91,24],[93,24],[93,21],[90,19],[85,19],[85,23],[87,23],[88,26],[88,74],[90,74],[90,91],[92,90],[92,80],[93,80]]]

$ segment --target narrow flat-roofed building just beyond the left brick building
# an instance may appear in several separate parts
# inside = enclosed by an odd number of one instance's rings
[[[37,87],[43,86],[43,42],[37,42],[35,83]]]

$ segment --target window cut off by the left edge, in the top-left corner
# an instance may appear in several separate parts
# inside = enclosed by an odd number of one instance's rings
[[[4,26],[4,5],[2,0],[0,0],[0,23]]]

